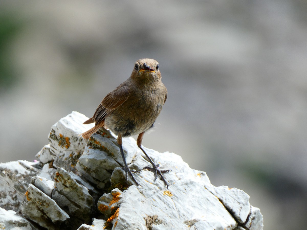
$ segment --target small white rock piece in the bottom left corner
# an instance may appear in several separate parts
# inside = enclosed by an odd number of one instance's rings
[[[28,220],[17,216],[13,210],[0,208],[0,229],[32,230],[32,227]]]

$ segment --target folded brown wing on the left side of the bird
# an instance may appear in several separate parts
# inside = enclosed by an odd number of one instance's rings
[[[124,103],[129,96],[129,87],[126,82],[120,84],[115,90],[111,93],[107,94],[105,98],[103,98],[102,102],[98,105],[93,120],[96,124],[100,123],[104,120],[104,118],[113,112],[119,105]]]

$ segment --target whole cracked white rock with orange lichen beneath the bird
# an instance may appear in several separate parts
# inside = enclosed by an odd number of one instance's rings
[[[83,114],[52,126],[39,162],[0,163],[1,229],[263,229],[260,209],[243,191],[216,187],[180,156],[144,148],[164,173],[154,180],[133,138],[123,139],[139,186],[126,184],[116,137],[101,129],[87,142]]]

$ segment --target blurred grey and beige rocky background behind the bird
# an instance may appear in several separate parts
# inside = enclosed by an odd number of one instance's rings
[[[1,1],[0,162],[72,110],[91,117],[139,58],[168,99],[143,144],[244,190],[265,229],[304,229],[307,2]]]

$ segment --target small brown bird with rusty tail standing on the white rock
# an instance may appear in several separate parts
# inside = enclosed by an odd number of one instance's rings
[[[160,170],[159,165],[153,163],[153,160],[142,148],[144,132],[153,127],[153,123],[160,114],[166,97],[167,90],[161,81],[159,63],[153,59],[139,59],[134,64],[130,78],[107,94],[97,107],[94,116],[83,123],[95,122],[93,128],[82,133],[82,136],[86,139],[101,127],[109,128],[118,135],[117,143],[125,164],[123,169],[126,173],[126,180],[128,181],[129,173],[137,185],[138,182],[136,182],[132,171],[127,166],[122,150],[122,137],[136,134],[138,134],[138,147],[143,151],[153,167],[146,167],[146,169],[154,172],[155,180],[157,179],[157,174],[159,174],[165,186],[168,186],[162,173],[170,170]]]

